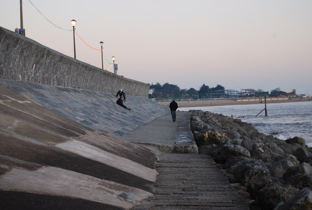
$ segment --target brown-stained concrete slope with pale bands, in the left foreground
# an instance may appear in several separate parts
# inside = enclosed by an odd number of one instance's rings
[[[129,209],[152,195],[156,158],[0,86],[0,209]]]

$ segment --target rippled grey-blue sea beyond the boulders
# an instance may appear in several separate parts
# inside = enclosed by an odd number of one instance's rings
[[[233,116],[252,124],[263,134],[273,135],[280,140],[298,136],[305,139],[308,147],[312,147],[312,102],[267,104],[268,116],[265,116],[264,108],[264,104],[254,104],[183,107],[178,110],[195,109]]]

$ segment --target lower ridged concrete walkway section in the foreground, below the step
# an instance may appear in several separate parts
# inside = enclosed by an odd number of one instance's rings
[[[163,153],[156,170],[154,196],[133,210],[249,209],[207,155]]]

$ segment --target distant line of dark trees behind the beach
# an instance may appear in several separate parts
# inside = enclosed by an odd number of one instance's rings
[[[176,84],[151,84],[150,89],[153,89],[153,93],[149,94],[149,98],[162,98],[162,99],[171,99],[171,98],[184,98],[184,99],[202,99],[202,98],[229,98],[229,93],[226,92],[225,88],[217,84],[215,87],[209,87],[206,84],[203,84],[199,87],[199,90],[191,87],[190,89],[180,89]],[[290,93],[281,91],[279,87],[271,90],[271,93],[264,92],[261,89],[254,91],[253,94],[241,94],[239,97],[259,97],[263,95],[268,95],[270,97],[277,96],[289,96]],[[231,96],[232,97],[232,96]]]

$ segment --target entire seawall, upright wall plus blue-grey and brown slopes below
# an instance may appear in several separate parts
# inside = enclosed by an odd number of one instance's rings
[[[0,27],[0,209],[121,210],[153,195],[156,155],[118,138],[169,112],[148,88]]]

